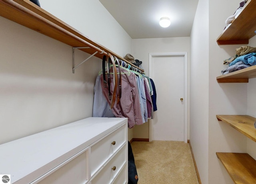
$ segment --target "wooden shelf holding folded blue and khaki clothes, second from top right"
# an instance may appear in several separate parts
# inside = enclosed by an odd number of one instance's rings
[[[216,79],[219,83],[222,82],[248,82],[249,78],[256,77],[256,65],[237,70],[222,76],[218,76]]]

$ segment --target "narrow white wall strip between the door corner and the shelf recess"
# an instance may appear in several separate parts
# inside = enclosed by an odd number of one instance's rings
[[[208,1],[199,0],[190,35],[190,144],[202,184],[208,183],[208,7]]]

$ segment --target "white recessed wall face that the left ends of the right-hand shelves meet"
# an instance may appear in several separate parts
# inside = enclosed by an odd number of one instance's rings
[[[216,119],[216,114],[246,114],[246,83],[218,83],[216,76],[227,66],[223,60],[235,55],[241,45],[218,45],[216,39],[225,20],[239,7],[240,0],[210,0],[209,3],[209,184],[232,184],[216,152],[246,152],[246,137]],[[228,8],[227,8],[228,7]],[[220,13],[217,13],[220,12]]]

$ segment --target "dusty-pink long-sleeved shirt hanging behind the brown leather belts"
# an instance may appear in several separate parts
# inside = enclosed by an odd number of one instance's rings
[[[112,113],[116,117],[127,117],[128,118],[128,127],[132,128],[134,125],[141,125],[143,124],[142,121],[142,114],[140,111],[140,99],[138,94],[138,88],[136,84],[136,75],[134,73],[126,74],[127,70],[120,68],[122,74],[122,98],[120,98],[120,102],[117,104],[115,102],[112,110]],[[110,69],[110,80],[113,81],[113,68]],[[102,92],[105,96],[108,104],[110,105],[111,100],[109,100],[109,91],[108,91],[108,84],[107,88],[104,88],[104,80],[103,75],[100,75],[100,82],[102,86]],[[114,89],[114,82],[110,83],[110,93],[113,94]],[[105,83],[106,85],[106,83]]]

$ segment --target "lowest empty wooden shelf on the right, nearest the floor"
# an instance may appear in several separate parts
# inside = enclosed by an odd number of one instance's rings
[[[256,183],[256,161],[247,153],[216,153],[236,184]]]

